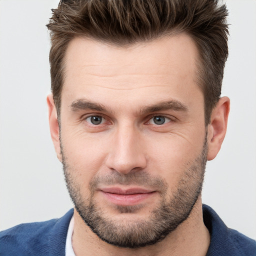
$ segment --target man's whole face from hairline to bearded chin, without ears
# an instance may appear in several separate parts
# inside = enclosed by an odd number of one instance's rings
[[[67,48],[61,160],[75,210],[108,243],[156,243],[200,194],[207,143],[197,54],[185,34],[127,48],[75,38]]]

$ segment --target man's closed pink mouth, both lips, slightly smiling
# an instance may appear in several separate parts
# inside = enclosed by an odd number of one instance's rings
[[[120,187],[106,187],[99,190],[110,202],[117,205],[136,205],[153,196],[156,191],[140,187],[123,189]]]

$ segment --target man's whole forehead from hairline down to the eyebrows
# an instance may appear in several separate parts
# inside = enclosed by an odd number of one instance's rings
[[[157,93],[161,97],[168,93],[179,99],[199,89],[197,59],[195,43],[185,33],[128,47],[77,37],[66,50],[62,96],[68,94],[70,100],[112,96],[132,101],[136,96],[150,100]]]

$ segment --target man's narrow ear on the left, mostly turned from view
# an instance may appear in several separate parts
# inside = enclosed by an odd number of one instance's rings
[[[53,145],[55,147],[57,157],[61,161],[59,125],[58,125],[58,119],[57,119],[57,111],[55,108],[52,94],[49,94],[47,96],[47,105],[48,105],[50,135],[51,135]]]

